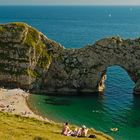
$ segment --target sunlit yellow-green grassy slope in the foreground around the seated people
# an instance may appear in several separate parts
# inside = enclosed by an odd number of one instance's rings
[[[34,118],[21,117],[0,112],[1,140],[90,140],[91,138],[66,137],[61,135],[62,124],[39,121]],[[70,126],[74,129],[74,126]],[[112,140],[111,137],[93,129],[95,140]]]

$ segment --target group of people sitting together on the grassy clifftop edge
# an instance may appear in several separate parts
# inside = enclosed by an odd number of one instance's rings
[[[86,128],[85,125],[83,125],[81,128],[75,128],[75,130],[70,130],[68,126],[68,122],[66,122],[62,128],[62,135],[65,136],[77,136],[77,137],[87,137],[88,128]]]

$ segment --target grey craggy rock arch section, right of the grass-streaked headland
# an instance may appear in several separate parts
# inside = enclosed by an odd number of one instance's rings
[[[57,91],[94,92],[99,90],[99,85],[103,89],[106,69],[118,65],[127,71],[136,83],[134,92],[139,93],[140,39],[105,38],[85,48],[64,50],[61,58],[59,61],[56,58],[50,67],[50,72],[54,68],[60,71],[55,82],[58,87],[63,86]],[[51,75],[49,72],[48,74]],[[53,80],[52,77],[50,80]]]

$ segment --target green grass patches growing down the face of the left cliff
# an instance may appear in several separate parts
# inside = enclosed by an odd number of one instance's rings
[[[43,40],[39,38],[39,36],[40,34],[36,29],[28,27],[28,33],[24,44],[32,49],[32,51],[30,52],[30,56],[32,56],[31,61],[32,62],[34,61],[33,58],[35,52],[35,58],[37,59],[39,56],[39,59],[36,60],[37,61],[36,66],[39,66],[44,70],[47,70],[48,65],[52,61],[52,56],[50,53],[48,53],[46,45],[44,44]],[[35,69],[32,70],[29,68],[26,70],[25,74],[33,78],[40,77],[39,72]]]

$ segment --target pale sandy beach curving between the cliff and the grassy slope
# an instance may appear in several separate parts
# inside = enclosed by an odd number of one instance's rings
[[[24,117],[33,117],[43,121],[49,121],[35,114],[28,106],[27,99],[30,93],[21,89],[0,89],[0,111],[21,115]]]

